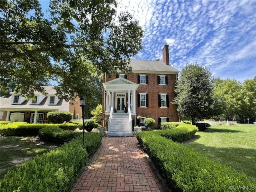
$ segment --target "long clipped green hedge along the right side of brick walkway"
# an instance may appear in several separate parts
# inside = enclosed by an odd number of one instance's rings
[[[244,174],[157,133],[172,130],[141,132],[137,139],[174,191],[222,192],[230,191],[230,186],[254,186]]]

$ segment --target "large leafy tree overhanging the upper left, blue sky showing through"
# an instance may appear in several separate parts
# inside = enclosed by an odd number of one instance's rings
[[[130,57],[142,49],[142,28],[128,12],[117,16],[114,0],[51,0],[46,15],[38,0],[0,6],[1,92],[14,82],[33,98],[35,90],[46,94],[40,85],[50,79],[60,98],[93,100],[97,76],[131,72]]]

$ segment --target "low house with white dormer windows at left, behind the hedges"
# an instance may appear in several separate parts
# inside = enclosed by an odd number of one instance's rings
[[[42,87],[48,94],[45,96],[35,92],[36,101],[25,100],[14,92],[11,92],[8,98],[0,98],[0,120],[48,123],[47,113],[52,111],[66,111],[72,114],[76,111],[76,119],[82,117],[79,98],[76,98],[72,105],[70,102],[58,99],[53,86]]]

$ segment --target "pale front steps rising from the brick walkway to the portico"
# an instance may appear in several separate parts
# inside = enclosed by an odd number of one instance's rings
[[[108,136],[132,136],[128,113],[113,113]]]

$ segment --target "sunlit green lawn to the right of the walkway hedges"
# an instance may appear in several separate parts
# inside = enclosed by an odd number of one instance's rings
[[[184,144],[256,183],[256,125],[215,125]]]

